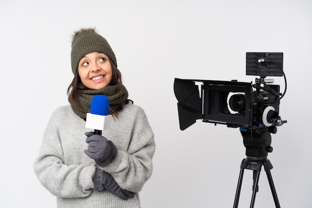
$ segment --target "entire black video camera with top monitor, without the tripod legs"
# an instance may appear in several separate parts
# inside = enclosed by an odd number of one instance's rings
[[[287,122],[281,120],[279,116],[280,100],[287,89],[283,71],[283,53],[247,52],[246,75],[260,76],[260,78],[256,78],[255,84],[236,80],[175,78],[174,94],[178,101],[180,129],[184,130],[197,119],[202,119],[203,122],[215,125],[226,124],[228,127],[240,127],[243,137],[249,137],[248,140],[252,142],[254,142],[252,138],[262,137],[265,132],[265,134],[276,133],[276,126]],[[279,85],[269,84],[274,80],[265,79],[267,76],[284,76],[284,94],[280,94]],[[200,94],[197,82],[202,83]],[[271,136],[268,142],[264,142],[261,138],[259,140],[265,143],[264,146],[259,147],[263,153],[260,155],[267,156],[267,152],[272,152],[272,147],[268,144],[271,144]],[[247,143],[244,142],[245,146],[249,145]],[[251,155],[260,156],[258,153]]]

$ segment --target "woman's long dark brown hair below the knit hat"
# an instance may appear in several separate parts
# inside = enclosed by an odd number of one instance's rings
[[[111,66],[112,66],[112,80],[110,82],[109,85],[113,86],[113,85],[119,85],[120,88],[120,96],[123,95],[123,90],[124,90],[124,86],[122,83],[122,79],[121,79],[121,72],[119,71],[119,69],[116,67],[116,65],[109,59]],[[79,77],[79,73],[78,70],[76,71],[76,74],[73,78],[73,81],[71,82],[71,84],[69,85],[68,89],[67,89],[67,95],[69,97],[70,100],[72,100],[78,107],[82,108],[78,101],[77,101],[77,90],[89,90],[89,88],[87,88],[86,86],[84,86],[81,82],[81,79]],[[124,104],[129,104],[132,103],[133,101],[131,100],[127,100],[125,101]],[[124,105],[123,104],[123,105]],[[118,111],[122,109],[121,107],[114,107],[114,106],[110,106],[110,112],[114,117],[118,118]]]

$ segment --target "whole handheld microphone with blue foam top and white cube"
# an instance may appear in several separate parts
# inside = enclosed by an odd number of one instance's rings
[[[110,102],[106,96],[93,97],[90,112],[87,113],[86,128],[94,129],[94,134],[102,135],[102,130],[109,129],[112,115],[109,115]]]

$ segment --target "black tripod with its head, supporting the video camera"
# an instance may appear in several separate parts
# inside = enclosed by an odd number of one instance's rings
[[[270,160],[267,159],[268,152],[273,151],[273,148],[270,146],[271,144],[270,133],[268,131],[265,131],[263,134],[259,136],[254,135],[254,138],[252,138],[250,134],[248,133],[245,133],[245,132],[241,132],[241,133],[244,138],[244,145],[246,147],[247,158],[243,159],[241,163],[241,167],[240,167],[241,170],[240,170],[237,189],[236,189],[234,208],[238,207],[239,195],[241,192],[243,175],[244,175],[245,169],[253,170],[253,182],[254,183],[253,183],[253,193],[252,193],[250,208],[254,207],[256,193],[258,192],[258,182],[259,182],[260,171],[261,171],[262,165],[264,166],[264,170],[267,173],[267,177],[269,180],[275,206],[276,208],[281,208],[277,194],[276,194],[272,175],[270,172],[270,170],[273,168],[273,165],[271,164]],[[260,144],[260,145],[250,146],[251,144]]]

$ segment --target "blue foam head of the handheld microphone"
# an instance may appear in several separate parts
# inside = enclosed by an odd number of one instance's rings
[[[96,95],[91,101],[91,114],[108,115],[110,111],[110,102],[106,96]]]

